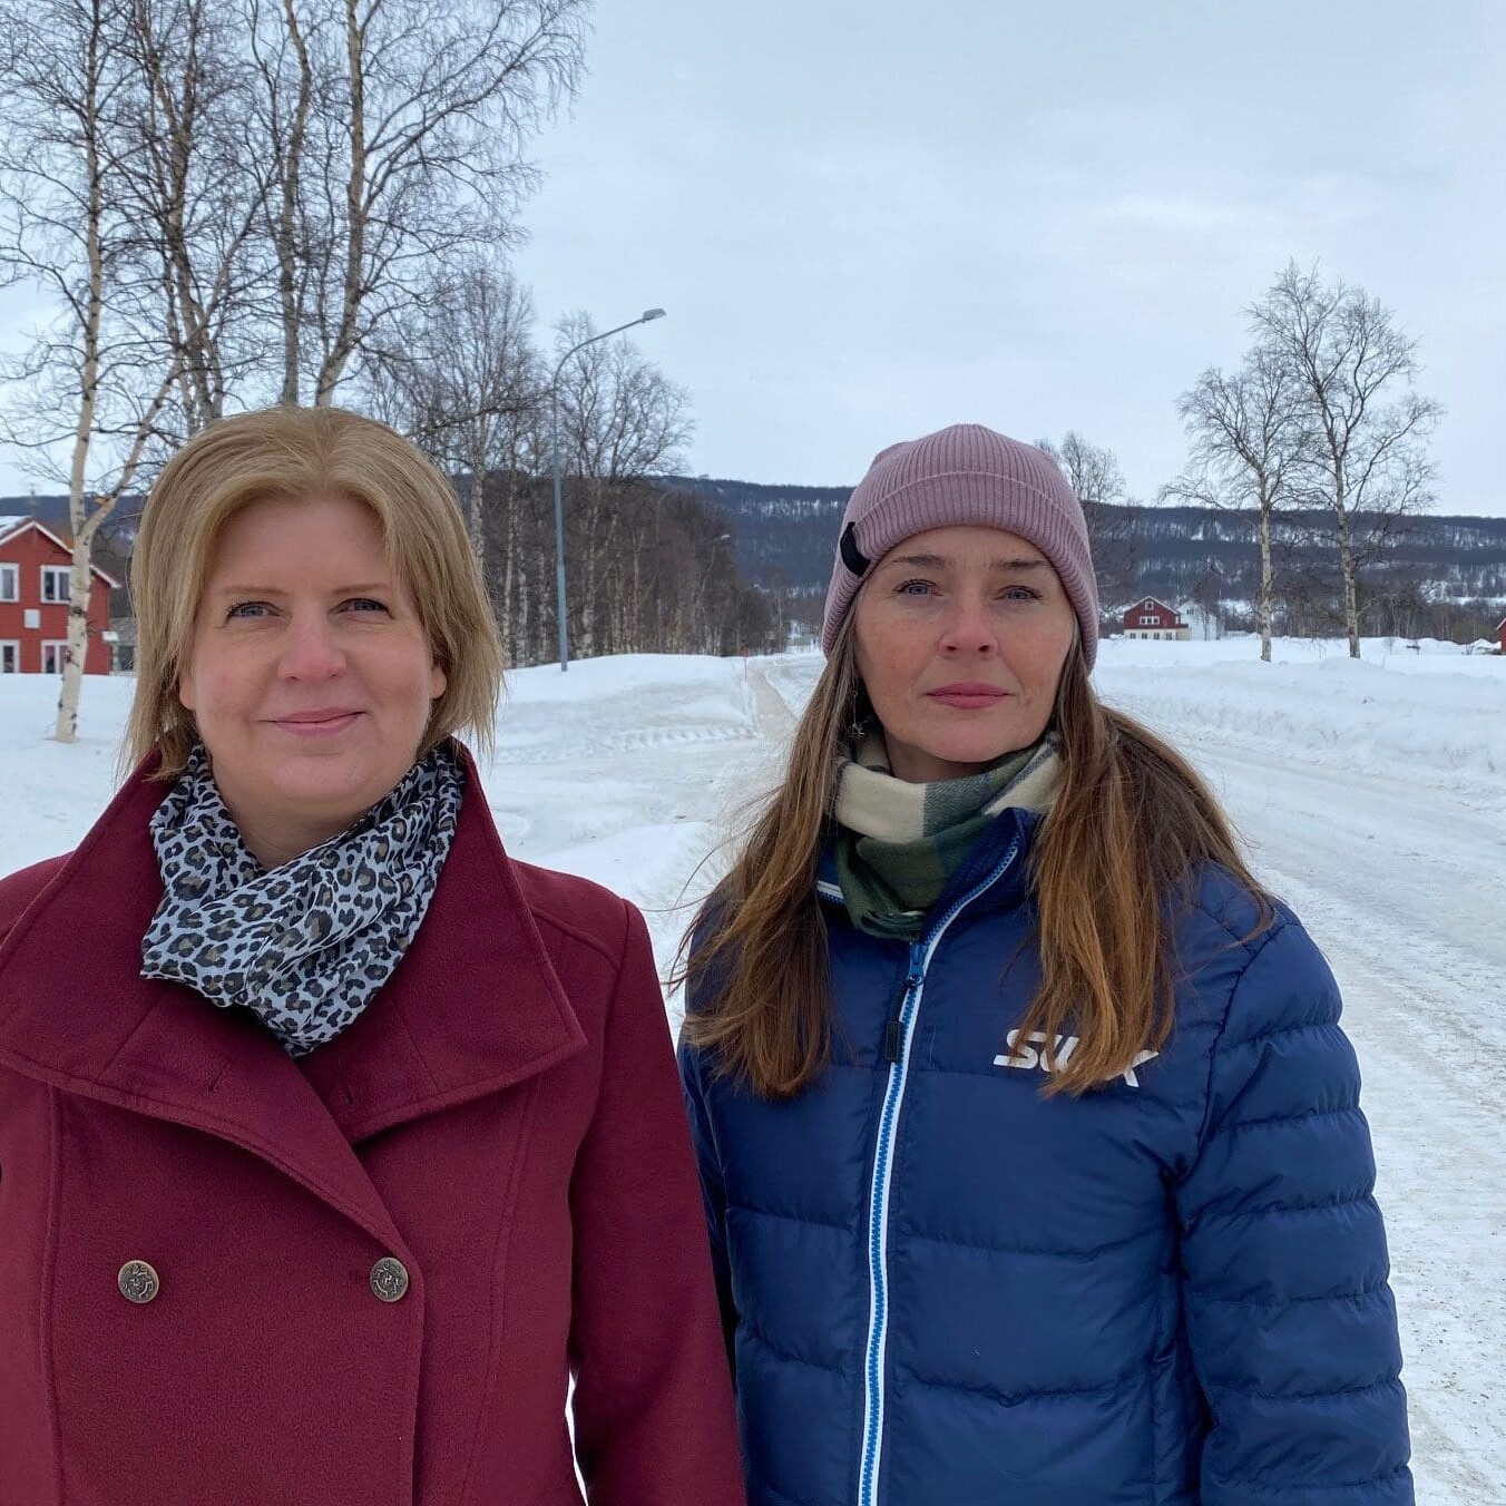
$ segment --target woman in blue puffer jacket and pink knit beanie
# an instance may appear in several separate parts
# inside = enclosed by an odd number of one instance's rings
[[[977,426],[852,494],[681,1048],[753,1506],[1398,1506],[1339,992]]]

